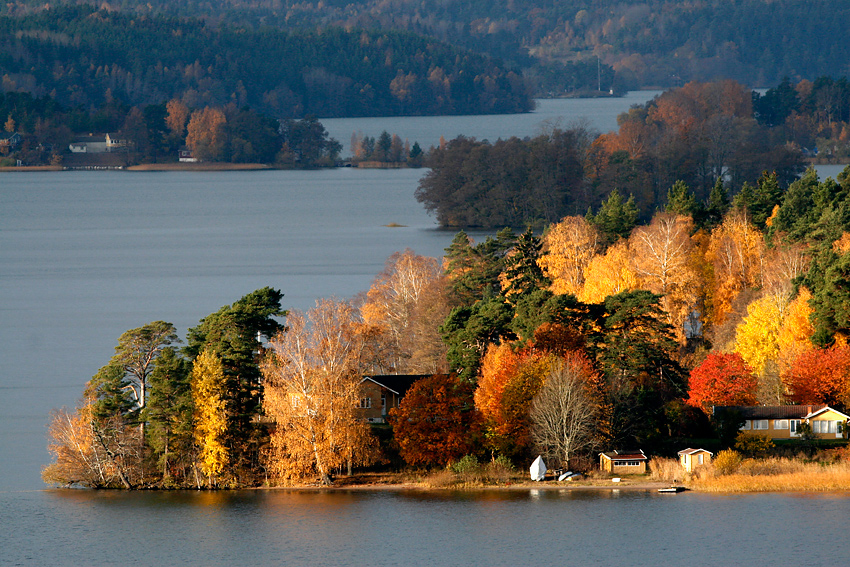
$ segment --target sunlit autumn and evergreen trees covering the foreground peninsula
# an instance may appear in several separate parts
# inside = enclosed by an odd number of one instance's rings
[[[599,451],[660,459],[698,442],[724,456],[697,488],[777,470],[797,489],[846,488],[846,435],[774,444],[711,408],[850,407],[850,168],[729,189],[720,178],[699,199],[678,180],[646,222],[612,193],[536,233],[461,231],[442,259],[398,252],[358,301],[306,313],[259,289],[183,346],[166,322],[129,330],[79,405],[54,413],[43,476],[231,488],[407,471],[504,485],[538,454],[598,476]],[[416,379],[370,424],[362,383],[382,375]]]

